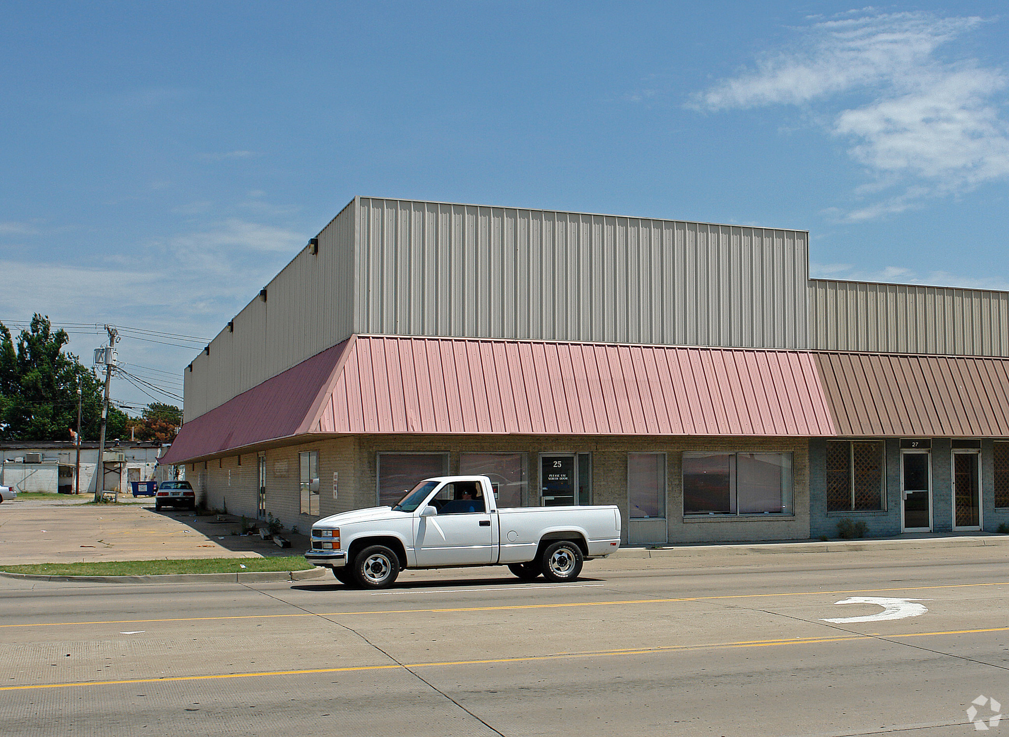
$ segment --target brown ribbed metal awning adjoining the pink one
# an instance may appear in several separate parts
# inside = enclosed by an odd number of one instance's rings
[[[837,434],[1007,437],[1009,360],[814,353]]]

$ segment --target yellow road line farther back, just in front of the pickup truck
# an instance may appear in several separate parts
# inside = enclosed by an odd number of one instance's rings
[[[0,629],[8,627],[76,627],[98,624],[154,624],[157,622],[206,622],[239,619],[285,619],[288,617],[361,617],[377,614],[445,614],[448,612],[500,612],[526,609],[561,609],[564,607],[618,607],[642,604],[672,604],[676,602],[705,602],[723,599],[764,599],[768,597],[811,597],[834,596],[842,594],[870,594],[874,592],[912,592],[929,591],[933,589],[965,589],[970,587],[1009,586],[1009,582],[994,584],[947,584],[941,586],[892,587],[888,589],[846,589],[826,592],[786,592],[782,594],[726,594],[709,597],[679,597],[674,599],[628,599],[608,602],[563,602],[554,604],[510,604],[487,607],[446,607],[440,609],[376,609],[361,612],[296,612],[291,614],[240,614],[227,617],[171,617],[164,619],[111,619],[95,622],[29,622],[21,624],[0,624]],[[521,592],[521,588],[516,589]],[[478,594],[479,589],[473,593]]]

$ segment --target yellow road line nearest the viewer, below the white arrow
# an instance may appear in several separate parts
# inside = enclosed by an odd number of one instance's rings
[[[991,629],[947,630],[944,632],[910,632],[888,635],[887,637],[935,637],[939,635],[976,634],[982,632],[1005,632],[1009,627]],[[777,647],[781,645],[819,645],[833,642],[876,639],[872,635],[838,635],[835,637],[796,637],[790,640],[743,640],[740,642],[711,642],[698,645],[657,645],[654,647],[623,648],[614,650],[589,650],[585,652],[555,652],[544,655],[521,655],[517,657],[496,657],[480,660],[443,660],[437,662],[417,662],[383,665],[347,665],[338,668],[307,668],[303,670],[261,670],[249,673],[213,673],[210,675],[169,675],[157,678],[129,678],[125,680],[85,680],[63,683],[30,683],[27,686],[2,686],[0,691],[34,691],[39,689],[66,689],[71,687],[124,686],[130,683],[159,683],[179,680],[219,680],[222,678],[261,678],[273,675],[311,675],[315,673],[342,673],[363,670],[391,670],[401,668],[454,667],[461,665],[493,665],[512,662],[556,660],[575,657],[619,657],[623,655],[653,655],[665,652],[688,652],[692,650],[727,649],[737,647]],[[884,638],[887,639],[887,638]]]

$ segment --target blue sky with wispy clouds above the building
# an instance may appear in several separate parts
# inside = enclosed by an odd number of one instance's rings
[[[813,276],[1009,289],[1004,7],[8,0],[0,320],[212,336],[355,194],[802,228]],[[119,351],[180,393],[194,346]]]

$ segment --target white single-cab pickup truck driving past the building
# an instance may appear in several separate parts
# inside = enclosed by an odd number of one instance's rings
[[[520,578],[578,577],[621,544],[614,506],[497,509],[485,476],[426,479],[395,507],[326,517],[305,557],[347,586],[384,589],[404,568],[508,565]]]

